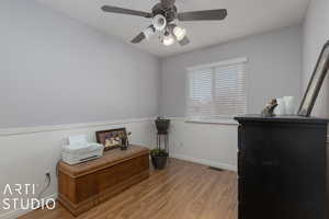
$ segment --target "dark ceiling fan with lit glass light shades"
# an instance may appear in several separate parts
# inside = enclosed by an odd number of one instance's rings
[[[175,41],[185,46],[190,44],[186,36],[186,30],[175,24],[175,21],[220,21],[227,16],[226,9],[206,10],[206,11],[191,11],[178,12],[174,5],[175,0],[160,0],[151,12],[136,11],[131,9],[123,9],[118,7],[103,5],[104,12],[129,14],[152,19],[152,24],[133,38],[133,44],[138,44],[144,39],[149,39],[157,32],[160,33],[161,43],[166,46],[172,45]]]

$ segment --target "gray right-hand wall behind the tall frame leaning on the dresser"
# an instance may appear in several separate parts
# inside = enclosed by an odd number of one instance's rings
[[[311,72],[324,44],[329,41],[329,1],[311,0],[304,23],[304,74],[303,84],[306,90]],[[315,116],[329,117],[329,76],[320,91]]]

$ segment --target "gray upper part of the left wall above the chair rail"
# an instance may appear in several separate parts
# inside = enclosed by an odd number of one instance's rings
[[[158,58],[34,1],[0,1],[0,128],[155,116],[158,87]]]

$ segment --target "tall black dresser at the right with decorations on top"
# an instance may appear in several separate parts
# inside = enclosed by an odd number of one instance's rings
[[[239,219],[328,219],[327,119],[236,117]]]

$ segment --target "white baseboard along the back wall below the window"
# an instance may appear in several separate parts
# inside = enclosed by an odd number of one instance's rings
[[[228,171],[237,172],[237,170],[238,170],[238,168],[235,165],[227,164],[227,163],[219,163],[219,162],[211,161],[211,160],[206,160],[206,159],[192,158],[192,157],[183,155],[183,154],[171,154],[170,157],[179,159],[179,160],[190,161],[190,162],[209,165],[209,166],[224,169],[224,170],[228,170]]]

